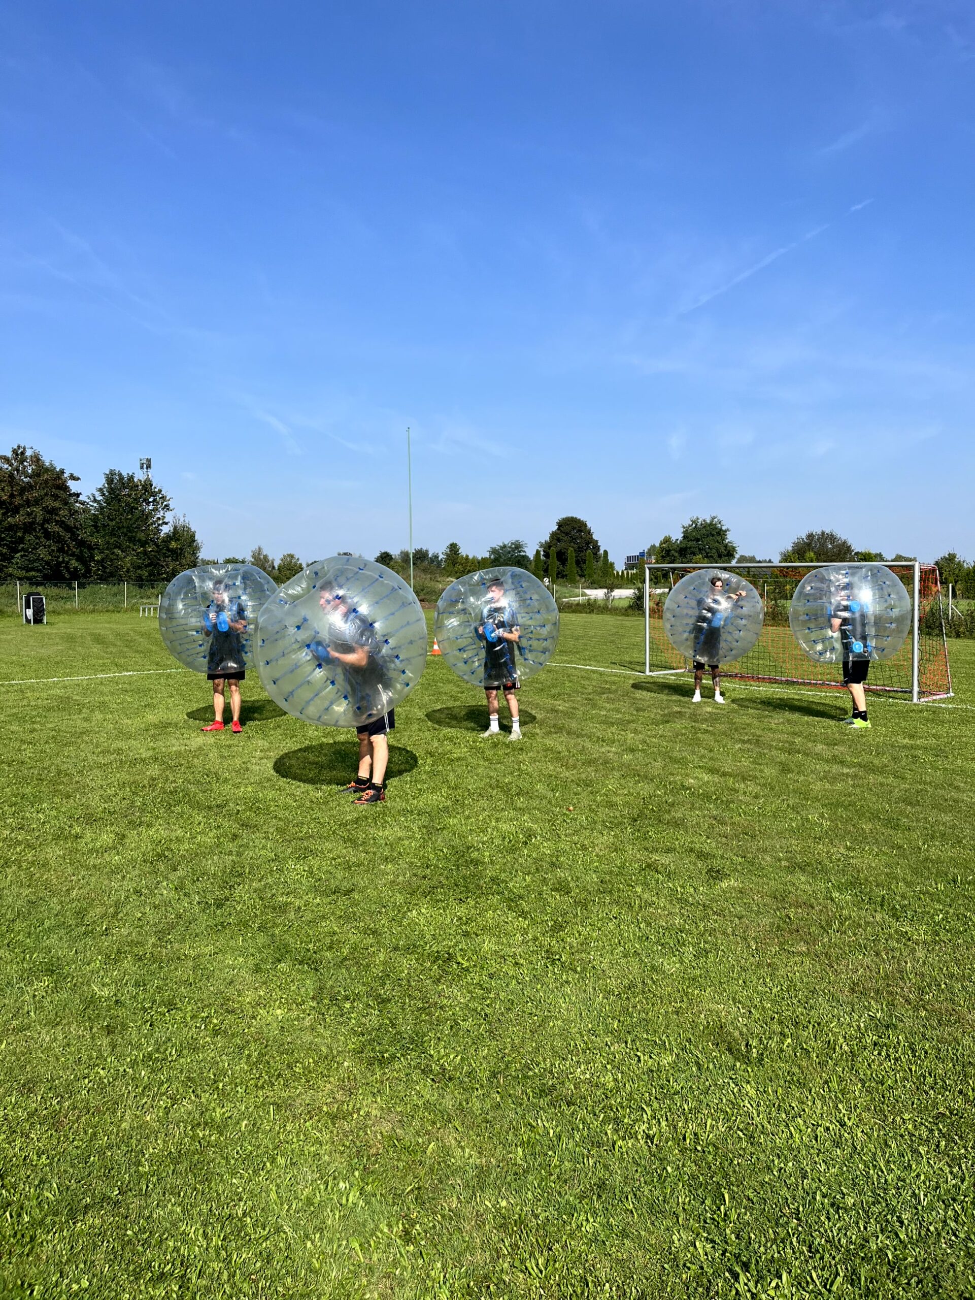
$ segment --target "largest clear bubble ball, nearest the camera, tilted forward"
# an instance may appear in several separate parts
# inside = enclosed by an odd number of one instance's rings
[[[257,640],[264,689],[316,727],[382,718],[426,667],[420,602],[361,555],[333,555],[285,582],[260,611]]]

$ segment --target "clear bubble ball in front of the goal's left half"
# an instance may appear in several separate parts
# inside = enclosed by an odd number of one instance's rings
[[[697,663],[741,659],[758,641],[762,597],[744,577],[720,568],[694,569],[670,592],[663,629],[677,654]]]

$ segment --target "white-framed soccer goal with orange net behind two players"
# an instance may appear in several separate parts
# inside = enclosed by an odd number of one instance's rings
[[[948,640],[941,603],[941,581],[935,564],[890,563],[911,597],[911,633],[889,660],[874,663],[867,690],[902,696],[914,703],[944,699],[952,694]],[[645,564],[644,632],[647,676],[690,671],[690,660],[679,654],[663,630],[667,594],[686,573],[698,568],[722,568],[748,578],[764,603],[764,625],[754,649],[722,668],[724,677],[745,681],[781,681],[824,689],[841,688],[838,664],[812,663],[789,628],[789,603],[806,573],[818,564]]]

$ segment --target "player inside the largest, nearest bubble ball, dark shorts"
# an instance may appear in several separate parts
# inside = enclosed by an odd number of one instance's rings
[[[350,698],[369,708],[386,684],[380,640],[365,615],[346,603],[342,592],[322,592],[318,604],[328,619],[326,641],[312,641],[309,649],[322,664],[342,664]],[[381,718],[356,727],[359,768],[348,785],[342,786],[343,792],[356,796],[354,803],[385,803],[387,737],[395,725],[395,710],[390,708]]]

